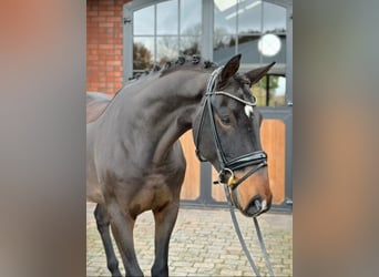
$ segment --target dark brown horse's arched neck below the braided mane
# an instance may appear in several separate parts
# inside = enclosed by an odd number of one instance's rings
[[[144,152],[146,160],[162,163],[177,138],[192,127],[207,74],[173,72],[150,84],[129,88],[117,96],[117,119],[125,143]],[[134,91],[133,91],[134,90]],[[140,153],[136,153],[140,154]]]

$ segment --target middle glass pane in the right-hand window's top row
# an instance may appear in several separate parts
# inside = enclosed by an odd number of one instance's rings
[[[257,34],[262,30],[262,1],[238,2],[238,34]]]

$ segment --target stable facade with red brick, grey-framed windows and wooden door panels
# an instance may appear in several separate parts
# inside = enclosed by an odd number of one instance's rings
[[[291,211],[293,1],[88,0],[86,90],[114,95],[129,79],[180,55],[218,64],[243,54],[240,71],[276,61],[252,93],[264,115],[262,141],[269,160],[275,208]],[[216,173],[201,164],[191,133],[182,138],[187,174],[182,201],[223,205]]]

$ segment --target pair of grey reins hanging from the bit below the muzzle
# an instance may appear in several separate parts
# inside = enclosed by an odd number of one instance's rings
[[[245,244],[245,239],[244,239],[244,237],[243,237],[243,235],[240,233],[239,225],[238,225],[238,222],[237,222],[237,218],[236,218],[236,214],[235,214],[234,207],[232,205],[232,197],[231,197],[231,193],[229,193],[229,188],[228,188],[227,184],[224,184],[224,191],[225,191],[225,195],[226,195],[226,198],[227,198],[227,204],[229,206],[231,216],[232,216],[232,220],[233,220],[233,226],[234,226],[234,229],[235,229],[235,232],[237,234],[237,237],[239,239],[240,246],[242,246],[242,248],[243,248],[243,250],[245,253],[245,256],[246,256],[248,263],[250,264],[250,267],[253,268],[254,274],[256,276],[260,276],[259,275],[259,270],[258,270],[257,266],[255,265],[254,259],[253,259],[253,257],[252,257],[250,253],[248,252],[247,246]],[[254,225],[255,225],[255,229],[257,232],[257,236],[258,236],[258,240],[259,240],[259,246],[260,246],[262,253],[264,255],[266,267],[268,269],[269,276],[274,277],[274,271],[273,271],[273,268],[272,268],[272,264],[269,263],[269,259],[268,259],[266,246],[265,246],[265,243],[263,240],[263,236],[262,236],[262,233],[260,233],[258,220],[257,220],[256,217],[253,217],[253,222],[254,222]]]

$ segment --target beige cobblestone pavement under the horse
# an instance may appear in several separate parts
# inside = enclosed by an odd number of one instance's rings
[[[93,217],[94,207],[94,204],[86,204],[86,275],[110,276]],[[260,274],[267,276],[252,218],[238,212],[236,215]],[[275,276],[293,276],[293,216],[270,213],[258,219]],[[150,276],[154,257],[151,212],[137,217],[134,242],[140,266],[145,276]],[[119,253],[117,257],[124,274]],[[224,208],[181,207],[170,243],[168,267],[171,276],[254,276],[235,234],[229,211]]]

